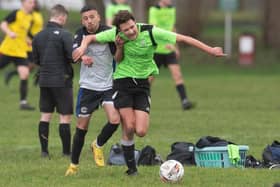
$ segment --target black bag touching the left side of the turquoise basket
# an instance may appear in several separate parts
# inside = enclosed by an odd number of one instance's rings
[[[167,160],[177,160],[181,164],[195,165],[194,144],[189,142],[175,142],[171,145],[171,153]]]

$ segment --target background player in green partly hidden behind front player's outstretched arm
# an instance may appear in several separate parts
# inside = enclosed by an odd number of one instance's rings
[[[149,24],[155,25],[168,31],[175,31],[176,9],[172,6],[171,0],[159,0],[156,6],[149,10]],[[187,90],[184,84],[180,65],[177,61],[180,52],[177,46],[172,44],[157,45],[154,60],[160,68],[162,65],[168,67],[175,82],[176,90],[181,99],[183,110],[189,110],[194,104],[187,97]],[[151,82],[154,77],[151,77]]]

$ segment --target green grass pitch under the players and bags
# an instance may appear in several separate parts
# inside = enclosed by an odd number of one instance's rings
[[[182,70],[188,95],[197,102],[192,111],[182,111],[169,72],[161,70],[152,87],[150,129],[146,137],[136,138],[136,148],[151,145],[163,157],[176,141],[196,141],[205,135],[219,136],[237,144],[249,145],[248,154],[261,159],[263,148],[279,138],[279,56],[263,50],[254,66],[242,68],[232,60],[216,59],[187,48]],[[49,138],[51,160],[40,158],[37,124],[40,113],[18,109],[18,80],[9,87],[0,72],[0,186],[170,186],[159,180],[159,166],[139,167],[139,176],[126,177],[122,166],[97,168],[89,150],[105,122],[98,111],[90,125],[81,154],[77,176],[64,177],[69,160],[61,157],[58,117],[54,116]],[[78,68],[76,68],[78,71]],[[78,72],[75,91],[78,89]],[[30,81],[31,82],[31,81]],[[30,84],[29,100],[38,105],[38,88]],[[76,93],[75,93],[76,95]],[[72,132],[75,119],[72,122]],[[106,157],[111,145],[120,140],[120,129],[104,147]],[[205,169],[185,166],[180,184],[172,186],[272,186],[279,172],[268,169]]]

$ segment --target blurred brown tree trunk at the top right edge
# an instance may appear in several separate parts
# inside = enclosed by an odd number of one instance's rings
[[[280,1],[266,0],[264,4],[264,43],[267,47],[280,47]]]

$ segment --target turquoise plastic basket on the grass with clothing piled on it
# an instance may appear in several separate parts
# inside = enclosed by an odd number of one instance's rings
[[[246,152],[249,147],[246,145],[238,145],[238,147],[240,161],[236,165],[233,165],[229,160],[227,146],[195,148],[195,163],[197,166],[205,168],[243,168],[245,167]]]

